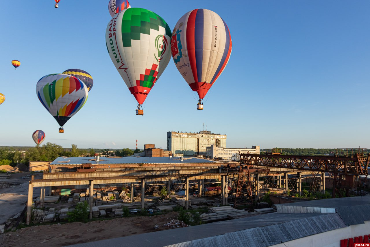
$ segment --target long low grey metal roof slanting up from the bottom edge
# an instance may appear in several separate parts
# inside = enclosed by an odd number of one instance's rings
[[[236,220],[220,221],[220,222],[209,223],[205,225],[197,225],[193,227],[177,228],[177,229],[172,229],[172,230],[145,233],[145,234],[139,234],[139,235],[128,236],[128,237],[112,238],[108,240],[101,240],[101,241],[96,241],[96,242],[91,242],[91,243],[76,244],[74,246],[75,247],[91,247],[91,246],[122,246],[122,247],[127,247],[127,246],[148,246],[149,247],[150,246],[152,247],[152,246],[169,246],[169,245],[173,245],[173,246],[217,246],[215,245],[215,242],[218,240],[220,241],[219,242],[220,245],[218,246],[225,246],[225,243],[224,243],[225,237],[221,238],[220,236],[224,236],[225,234],[227,235],[230,233],[235,233],[236,235],[231,237],[231,239],[234,239],[238,236],[237,234],[238,232],[246,230],[246,229],[252,229],[256,227],[265,227],[268,225],[273,225],[275,227],[276,225],[289,222],[289,221],[299,222],[303,220],[302,224],[310,224],[313,227],[315,226],[315,224],[312,224],[311,221],[320,221],[320,224],[324,224],[324,225],[326,224],[325,221],[330,221],[327,224],[336,225],[337,228],[345,226],[343,221],[339,218],[338,215],[337,217],[336,216],[329,217],[328,215],[337,215],[337,214],[271,213],[271,214],[256,215],[256,216],[247,217],[247,218],[240,218]],[[307,223],[308,218],[312,218],[312,220],[309,221],[309,223]],[[332,220],[333,218],[334,220]],[[298,223],[295,223],[295,224],[298,224]],[[297,226],[294,225],[293,227],[297,227]],[[329,227],[327,228],[329,229]],[[282,229],[284,230],[281,230],[282,233],[279,233],[280,234],[279,236],[285,236],[287,234],[286,226],[282,227]],[[316,231],[319,231],[322,229],[326,229],[326,228],[318,228],[318,230]],[[314,229],[310,230],[308,233],[311,233],[311,232],[315,232],[315,230]],[[261,232],[259,234],[263,235],[265,233]],[[241,236],[242,238],[246,238],[245,234],[241,234]],[[210,240],[202,240],[203,238],[210,238]],[[260,243],[259,242],[260,239],[254,236],[253,233],[250,233],[250,236],[248,238],[256,238],[254,241],[256,243]],[[194,240],[198,240],[198,241],[194,241]],[[194,245],[188,245],[189,241],[191,241],[191,244],[194,244]],[[207,242],[208,245],[203,243],[202,241],[208,241]],[[228,243],[230,243],[230,240],[228,241],[229,241]],[[239,240],[234,240],[234,241],[242,241],[242,240],[239,239]],[[263,241],[267,241],[267,240],[263,240]],[[185,244],[185,245],[182,245],[182,244]],[[241,246],[243,246],[243,244]]]

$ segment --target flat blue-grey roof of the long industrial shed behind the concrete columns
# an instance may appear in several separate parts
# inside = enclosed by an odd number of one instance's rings
[[[181,161],[178,157],[122,157],[122,158],[108,158],[100,157],[100,161],[91,161],[93,157],[58,157],[51,165],[75,165],[83,163],[91,164],[176,164],[176,163],[217,163],[208,159],[198,159],[194,157],[186,157]]]

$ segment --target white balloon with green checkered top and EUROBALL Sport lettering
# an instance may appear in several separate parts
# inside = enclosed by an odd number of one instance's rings
[[[108,53],[139,103],[136,115],[143,115],[141,105],[168,65],[170,39],[168,24],[150,10],[125,9],[108,23]]]

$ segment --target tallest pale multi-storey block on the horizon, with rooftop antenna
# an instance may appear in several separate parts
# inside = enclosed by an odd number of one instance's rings
[[[205,156],[207,147],[211,145],[226,146],[226,135],[213,134],[211,131],[167,132],[167,149],[172,154]]]

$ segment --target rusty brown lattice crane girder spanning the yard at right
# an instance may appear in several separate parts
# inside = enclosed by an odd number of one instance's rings
[[[343,149],[342,149],[343,150]],[[272,168],[290,168],[301,171],[328,172],[333,174],[333,198],[349,196],[358,188],[357,177],[368,175],[370,154],[367,149],[352,149],[343,156],[303,156],[281,154],[240,154],[240,166],[258,165]],[[365,151],[365,152],[364,152]]]

